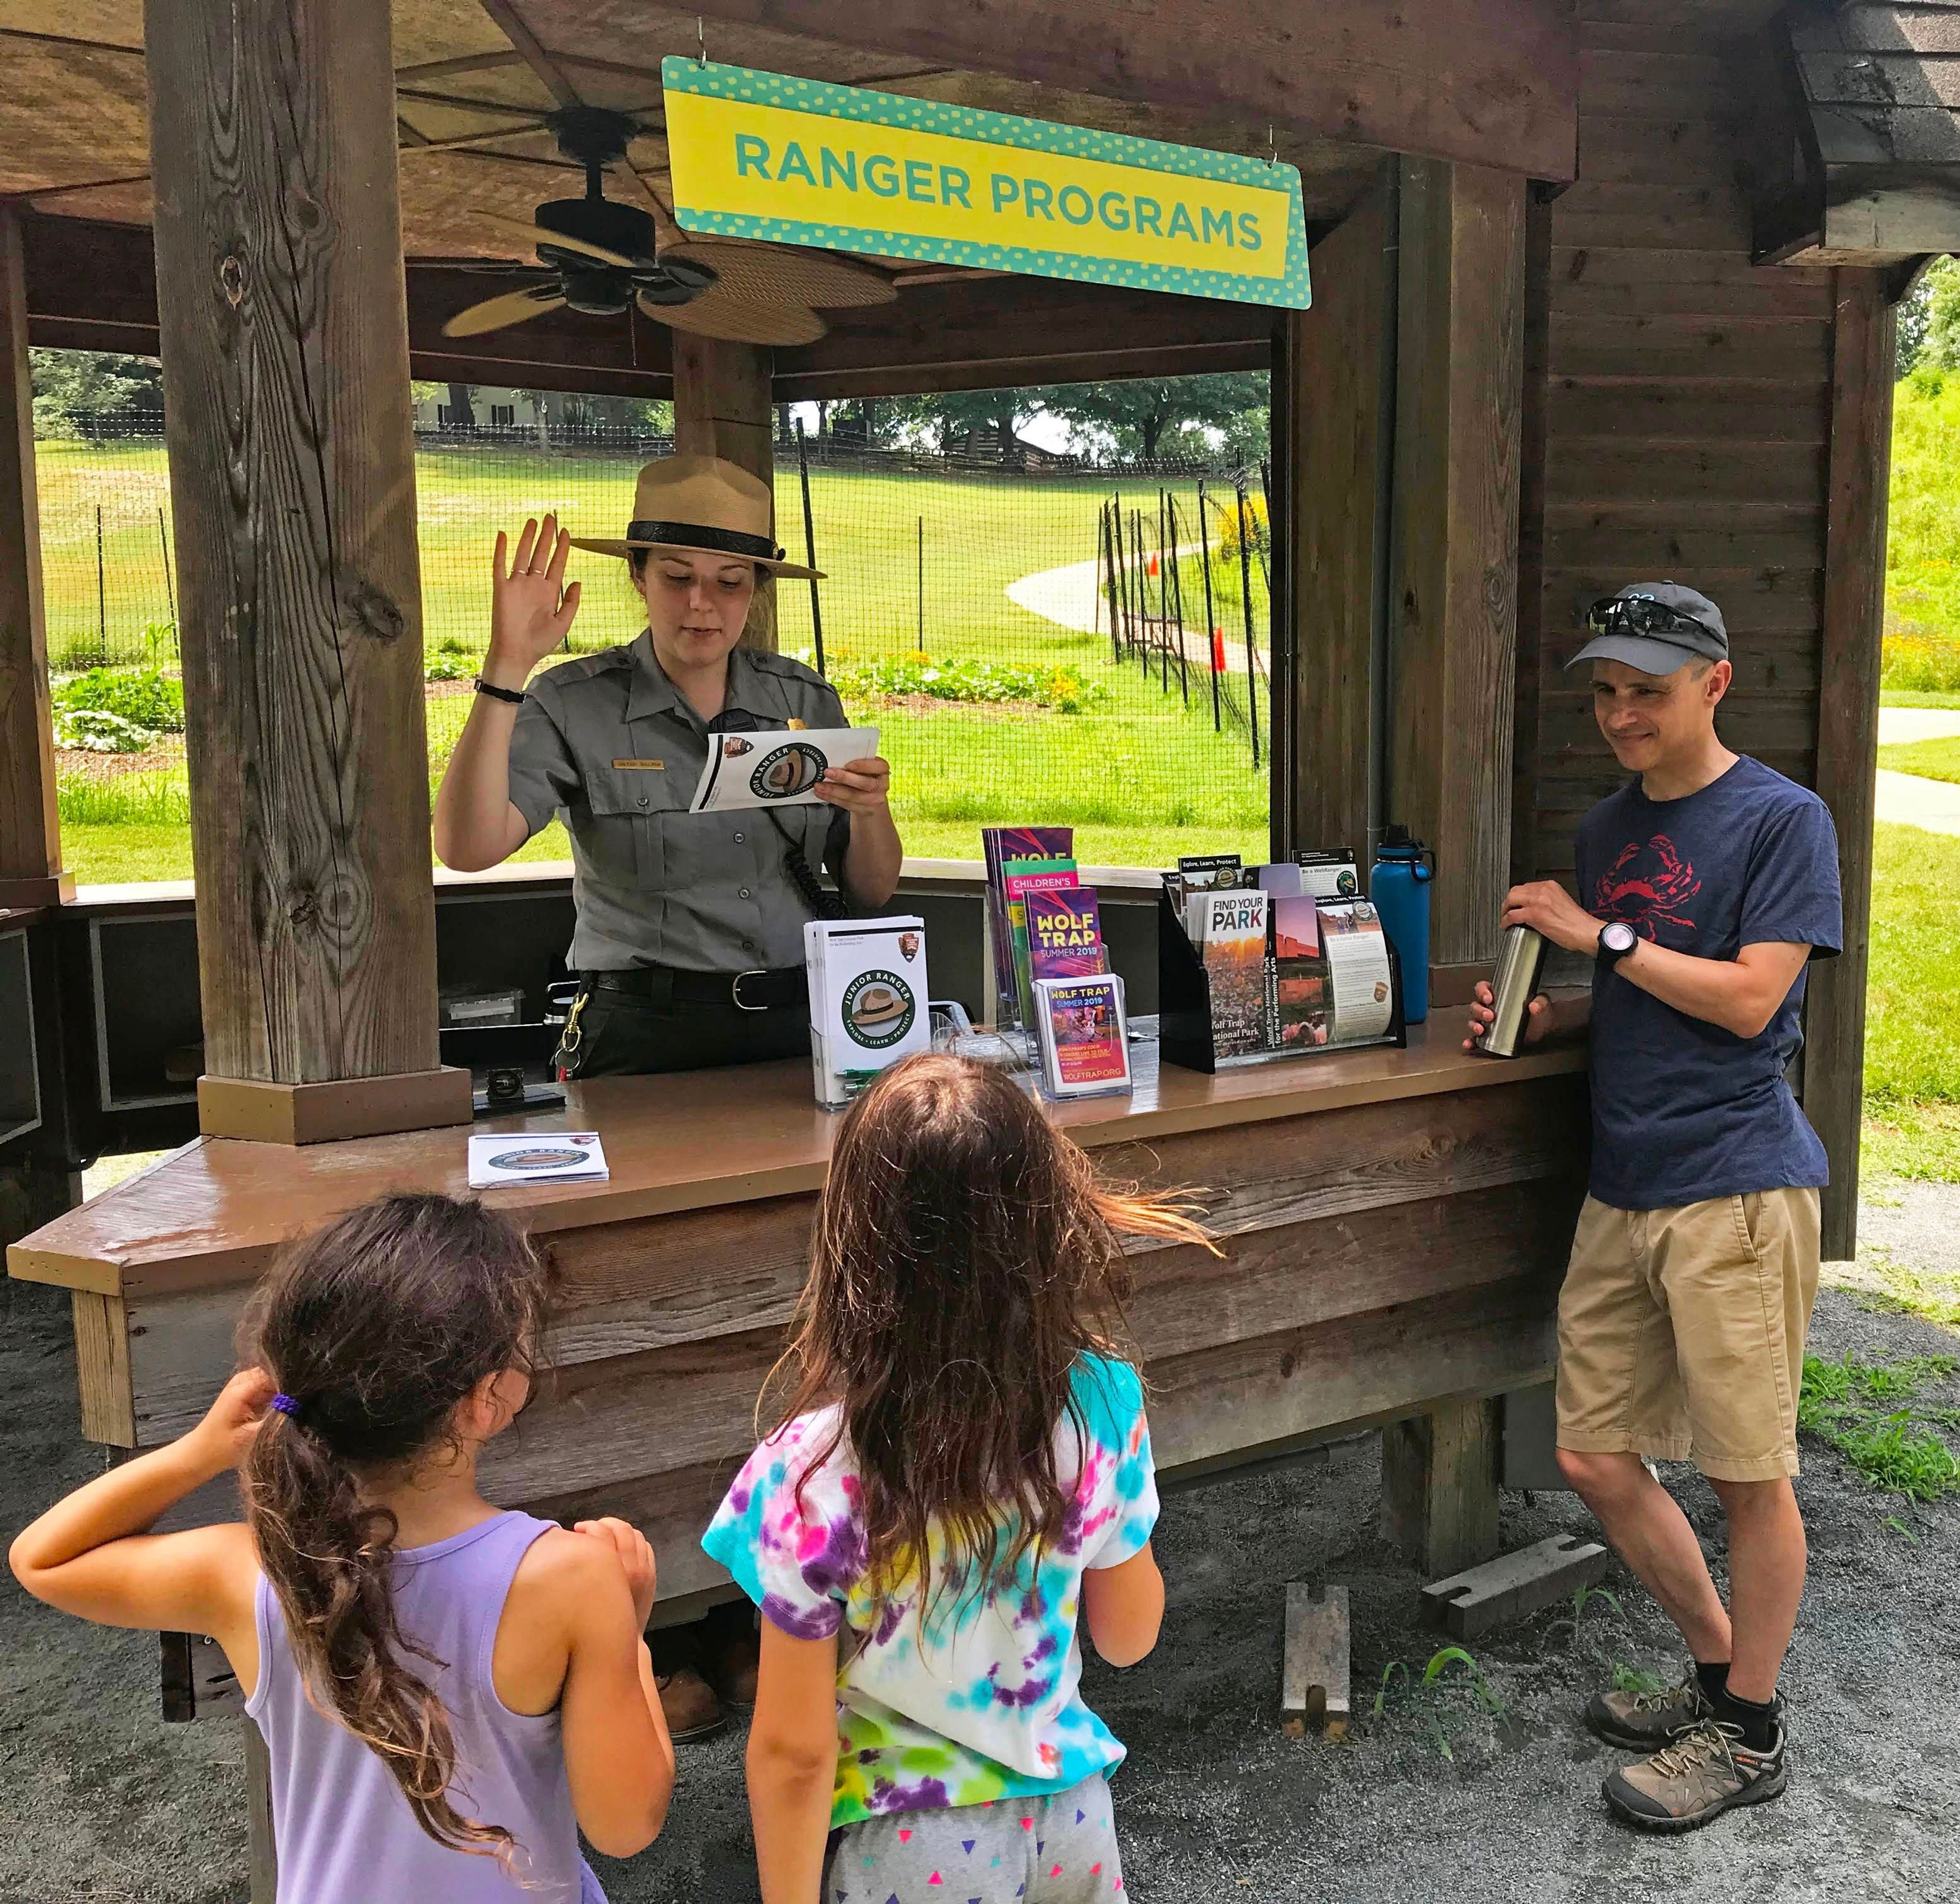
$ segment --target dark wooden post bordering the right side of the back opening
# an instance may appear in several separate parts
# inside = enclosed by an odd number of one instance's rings
[[[1394,353],[1394,176],[1313,247],[1315,302],[1286,319],[1292,539],[1292,842],[1370,854],[1380,776],[1378,625]],[[1274,723],[1278,731],[1278,723]]]

